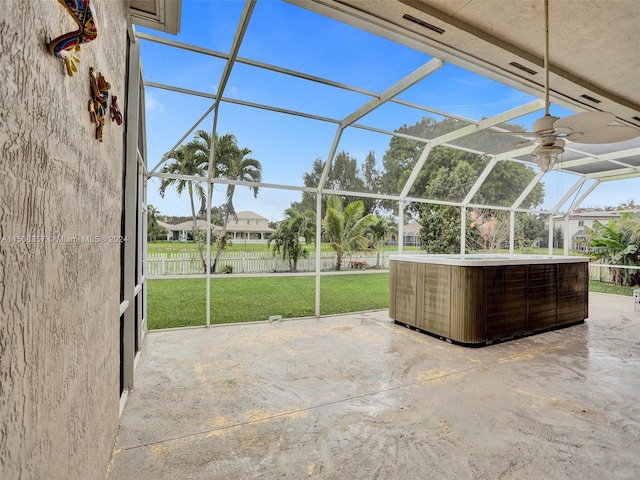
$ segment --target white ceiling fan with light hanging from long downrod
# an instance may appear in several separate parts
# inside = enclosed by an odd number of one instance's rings
[[[610,125],[615,115],[609,112],[584,112],[559,118],[549,114],[549,0],[544,0],[544,117],[533,122],[533,132],[504,132],[507,135],[531,137],[519,143],[535,143],[531,155],[543,172],[551,170],[564,152],[565,138],[576,143],[615,143],[631,140],[640,130],[623,125]]]

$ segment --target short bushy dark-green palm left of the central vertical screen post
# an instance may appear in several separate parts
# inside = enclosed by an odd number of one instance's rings
[[[280,255],[282,260],[288,261],[289,270],[295,273],[298,271],[298,260],[309,256],[302,241],[305,244],[313,241],[315,213],[312,210],[300,213],[289,208],[286,216],[275,233],[271,234],[267,244],[271,246],[273,256]]]

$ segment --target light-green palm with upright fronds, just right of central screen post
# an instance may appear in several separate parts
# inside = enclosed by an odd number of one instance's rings
[[[329,247],[336,252],[336,270],[342,266],[345,254],[369,249],[369,239],[364,231],[375,221],[375,215],[364,215],[364,203],[356,200],[344,209],[336,195],[327,200],[327,211],[322,228],[329,240]]]

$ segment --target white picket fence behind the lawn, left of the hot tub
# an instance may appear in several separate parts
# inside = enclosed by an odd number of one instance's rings
[[[376,262],[376,253],[350,255],[343,258],[342,268],[357,268],[354,267],[354,263],[360,268],[373,268],[376,266]],[[213,263],[213,256],[211,263]],[[334,253],[322,253],[320,258],[322,271],[334,270],[335,263],[336,256]],[[269,252],[222,252],[218,259],[218,271],[223,271],[227,265],[231,267],[233,273],[289,271],[289,262],[283,261],[280,257],[274,257]],[[389,268],[389,252],[380,254],[379,266],[381,268]],[[198,252],[148,253],[146,267],[147,276],[204,273]],[[315,270],[315,255],[309,255],[308,258],[298,260],[298,272],[314,272]]]

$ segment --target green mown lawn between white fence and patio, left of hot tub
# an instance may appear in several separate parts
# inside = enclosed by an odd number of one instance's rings
[[[150,329],[206,323],[204,279],[149,280]],[[320,313],[330,315],[389,308],[388,273],[323,276]],[[268,320],[315,315],[314,277],[213,278],[211,323]]]

